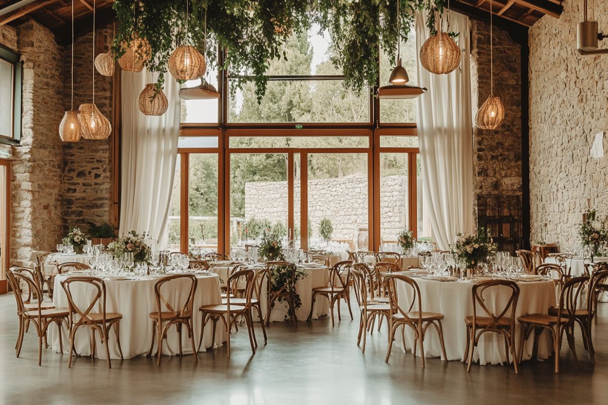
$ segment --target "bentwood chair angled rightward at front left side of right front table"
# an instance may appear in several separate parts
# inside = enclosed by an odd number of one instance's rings
[[[433,325],[435,330],[439,335],[439,341],[441,343],[441,354],[443,355],[444,361],[447,361],[446,356],[446,347],[443,343],[443,327],[441,326],[441,319],[443,319],[443,314],[434,313],[434,312],[424,312],[422,310],[422,299],[420,296],[420,287],[416,282],[407,276],[402,274],[389,273],[386,274],[385,279],[387,281],[387,287],[389,291],[389,300],[390,300],[390,308],[392,312],[392,316],[389,319],[389,349],[386,353],[385,362],[389,362],[390,350],[393,348],[393,341],[395,340],[395,332],[399,326],[401,326],[401,339],[404,341],[404,349],[405,349],[405,339],[403,336],[403,329],[407,326],[412,328],[414,332],[414,346],[412,349],[412,354],[416,355],[416,343],[420,341],[420,356],[422,361],[422,368],[424,369],[424,335],[426,334],[426,330],[430,325]],[[397,290],[396,290],[396,282],[400,282],[405,284],[406,288],[411,289],[412,299],[410,301],[409,307],[407,310],[404,310],[399,302],[397,301]],[[405,300],[402,300],[405,301]],[[413,311],[413,309],[418,308],[418,310]]]

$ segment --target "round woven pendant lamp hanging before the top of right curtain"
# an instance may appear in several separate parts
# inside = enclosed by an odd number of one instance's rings
[[[460,64],[460,48],[448,33],[438,32],[420,48],[420,63],[435,75],[450,73]]]

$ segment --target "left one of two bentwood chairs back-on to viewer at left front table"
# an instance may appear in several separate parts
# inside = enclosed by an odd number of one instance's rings
[[[72,284],[89,284],[92,286],[94,296],[89,299],[89,304],[86,309],[78,307],[72,296]],[[120,359],[124,359],[122,348],[120,347],[120,319],[122,314],[115,312],[106,312],[106,284],[98,277],[69,277],[61,281],[61,287],[66,292],[67,304],[69,305],[69,331],[70,331],[70,357],[67,361],[67,367],[72,367],[72,354],[74,353],[74,338],[76,331],[81,326],[91,328],[91,360],[95,359],[95,331],[99,332],[102,344],[106,349],[106,359],[108,360],[108,369],[112,368],[109,352],[109,332],[114,327],[116,333],[116,342],[120,352]],[[101,310],[93,312],[94,307],[101,306]],[[83,306],[84,307],[84,306]]]

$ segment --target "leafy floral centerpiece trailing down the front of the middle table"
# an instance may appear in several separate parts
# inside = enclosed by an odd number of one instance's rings
[[[281,240],[278,239],[273,233],[264,232],[258,248],[258,253],[262,260],[268,262],[282,261],[285,260],[285,255],[282,252],[283,245]],[[295,271],[295,277],[292,277],[293,271]],[[302,300],[300,295],[295,290],[295,284],[306,277],[308,274],[302,268],[292,266],[273,266],[271,268],[270,284],[272,291],[279,291],[285,287],[285,291],[292,295],[296,308],[302,306]],[[281,298],[278,301],[282,301]],[[291,315],[291,313],[289,313]]]

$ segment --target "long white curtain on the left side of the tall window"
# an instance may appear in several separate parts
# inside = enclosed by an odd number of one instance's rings
[[[168,75],[167,75],[168,76]],[[165,80],[169,108],[159,117],[143,115],[137,97],[147,83],[147,71],[122,72],[122,186],[120,234],[147,232],[157,248],[167,245],[167,225],[173,174],[178,154],[179,84]]]

